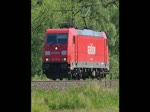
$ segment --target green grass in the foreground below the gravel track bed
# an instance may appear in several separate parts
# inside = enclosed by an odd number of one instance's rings
[[[119,112],[119,87],[92,83],[66,91],[32,88],[32,112]]]

